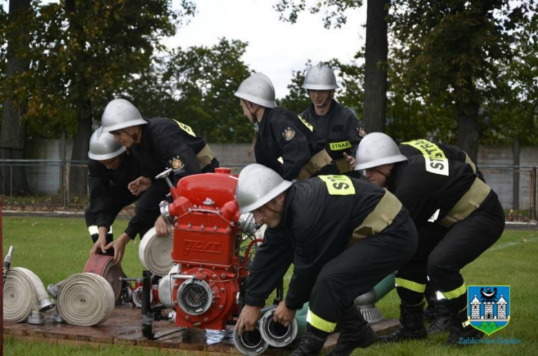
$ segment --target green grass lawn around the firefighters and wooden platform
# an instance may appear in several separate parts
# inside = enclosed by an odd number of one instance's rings
[[[114,224],[119,236],[127,220]],[[21,266],[37,274],[43,284],[61,281],[83,270],[92,246],[81,218],[4,217],[3,252],[15,246],[12,266]],[[497,244],[463,273],[468,284],[510,285],[511,321],[503,330],[493,333],[490,339],[519,339],[520,344],[490,344],[456,348],[445,346],[447,335],[437,335],[420,342],[403,344],[375,344],[352,355],[537,355],[538,342],[538,232],[507,230]],[[138,259],[138,239],[128,244],[122,268],[126,275],[140,276],[142,266]],[[289,276],[288,276],[289,277]],[[289,282],[289,278],[286,283]],[[269,300],[272,300],[271,298]],[[399,314],[398,298],[392,291],[377,307],[388,318]],[[39,342],[26,343],[14,339],[4,341],[6,355],[161,355],[159,350],[127,348],[121,346],[52,346]],[[188,355],[188,353],[175,353]]]

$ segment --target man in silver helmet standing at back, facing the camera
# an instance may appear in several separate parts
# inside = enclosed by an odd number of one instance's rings
[[[350,110],[332,99],[338,88],[335,73],[319,62],[306,73],[303,88],[308,91],[312,103],[301,113],[301,117],[314,126],[326,141],[326,150],[339,172],[360,178],[360,172],[353,168],[359,142],[366,131]]]

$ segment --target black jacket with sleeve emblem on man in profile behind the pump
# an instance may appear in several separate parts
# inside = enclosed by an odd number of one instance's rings
[[[325,141],[298,115],[283,108],[266,108],[258,125],[256,162],[291,181],[310,157],[325,148]],[[281,161],[279,161],[281,159]]]

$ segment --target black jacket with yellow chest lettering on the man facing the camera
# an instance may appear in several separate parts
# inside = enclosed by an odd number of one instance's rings
[[[362,139],[359,135],[361,128],[359,120],[349,109],[332,99],[325,115],[317,115],[314,104],[310,103],[301,117],[314,126],[318,135],[326,141],[325,148],[332,159],[341,159],[344,153],[355,157]]]

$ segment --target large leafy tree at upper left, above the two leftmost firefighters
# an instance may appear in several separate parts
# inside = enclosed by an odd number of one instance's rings
[[[26,92],[28,132],[56,137],[65,131],[74,138],[71,159],[86,161],[92,122],[163,49],[161,38],[175,34],[195,10],[188,0],[181,5],[174,12],[169,0],[32,3],[39,16],[28,19],[30,70],[14,79]],[[72,167],[75,194],[86,192],[86,175]]]

